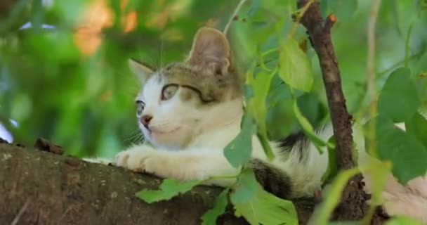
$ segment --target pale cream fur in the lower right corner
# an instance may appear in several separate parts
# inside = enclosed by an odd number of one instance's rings
[[[365,177],[365,182],[369,188],[369,178]],[[383,209],[390,216],[412,217],[427,224],[427,176],[419,176],[403,186],[389,174],[381,195]]]

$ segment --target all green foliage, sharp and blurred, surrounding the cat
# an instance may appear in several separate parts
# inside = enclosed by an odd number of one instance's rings
[[[41,6],[41,1],[14,2],[0,16],[1,123],[18,142],[32,143],[44,136],[68,154],[106,157],[140,141],[132,105],[139,86],[127,68],[127,58],[157,67],[180,60],[198,27],[223,29],[237,5],[237,1],[225,0],[78,0],[53,1],[51,6]],[[327,223],[340,190],[359,169],[382,177],[391,168],[404,184],[427,170],[423,163],[427,160],[426,1],[381,4],[376,22],[377,117],[367,116],[371,103],[364,24],[370,2],[322,0],[320,6],[324,16],[334,13],[338,18],[332,39],[348,110],[357,122],[367,118],[374,123],[375,130],[364,134],[367,139],[376,137],[377,148],[370,153],[386,162],[339,172],[334,179],[335,166],[329,165],[330,174],[324,177],[332,180],[333,189],[318,217],[320,224]],[[247,111],[242,131],[225,148],[225,156],[242,172],[202,217],[204,224],[213,224],[229,200],[236,214],[252,224],[296,223],[291,203],[263,191],[247,169],[251,134],[257,134],[269,158],[274,156],[266,141],[297,129],[303,129],[320,150],[328,147],[329,153],[334,152],[332,142],[314,132],[327,120],[327,101],[306,31],[291,19],[296,12],[294,0],[251,0],[232,22],[228,37],[236,62],[244,70]],[[29,21],[32,28],[20,28]],[[407,131],[393,122],[404,122]],[[388,162],[390,167],[384,166]],[[150,203],[166,200],[200,182],[181,184],[166,179],[159,191],[146,190],[138,196]],[[375,204],[381,202],[376,199],[381,185],[379,181],[373,193]],[[253,207],[255,211],[250,210]],[[396,218],[389,224],[410,221]]]

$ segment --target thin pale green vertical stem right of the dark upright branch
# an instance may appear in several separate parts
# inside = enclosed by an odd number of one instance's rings
[[[369,115],[374,118],[376,115],[376,90],[375,90],[375,24],[376,17],[378,15],[379,6],[381,0],[374,0],[372,2],[371,11],[369,13],[368,25],[367,25],[367,43],[368,43],[368,54],[367,54],[367,88],[369,96]],[[372,122],[369,130],[371,132],[369,136],[368,152],[374,154],[376,149],[375,143],[375,123]]]

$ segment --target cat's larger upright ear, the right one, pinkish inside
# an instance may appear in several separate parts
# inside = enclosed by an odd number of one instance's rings
[[[230,45],[227,38],[219,30],[200,28],[187,61],[192,65],[214,68],[217,74],[227,74],[230,67]]]

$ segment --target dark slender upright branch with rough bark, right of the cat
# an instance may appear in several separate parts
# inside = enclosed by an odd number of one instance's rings
[[[308,4],[309,0],[298,0],[298,8]],[[330,15],[325,20],[320,14],[319,3],[310,5],[301,18],[306,27],[313,47],[319,57],[320,68],[326,89],[331,121],[336,140],[336,158],[339,169],[349,169],[355,166],[352,159],[353,136],[351,116],[346,108],[346,99],[341,89],[341,75],[338,61],[331,41],[331,27],[336,18]],[[341,197],[341,203],[336,208],[332,219],[355,220],[361,219],[367,210],[367,195],[363,191],[362,175],[354,176],[348,182]]]

